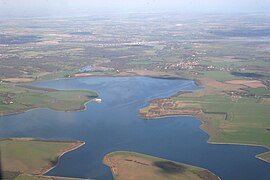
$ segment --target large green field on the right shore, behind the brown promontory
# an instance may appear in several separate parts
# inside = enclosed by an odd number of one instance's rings
[[[177,97],[175,101],[197,104],[206,112],[207,132],[210,142],[257,144],[270,147],[269,104],[256,98],[242,97],[233,101],[229,96],[207,95],[203,97]],[[190,106],[192,106],[190,105]],[[221,118],[211,113],[227,113]],[[203,125],[204,128],[204,125]]]

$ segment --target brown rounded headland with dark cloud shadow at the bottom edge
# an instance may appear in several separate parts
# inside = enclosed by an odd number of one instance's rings
[[[117,180],[218,180],[208,170],[132,152],[106,155],[108,165]]]

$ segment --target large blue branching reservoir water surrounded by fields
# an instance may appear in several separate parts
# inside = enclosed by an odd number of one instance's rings
[[[83,140],[86,145],[64,155],[47,175],[112,179],[102,164],[105,154],[135,151],[207,168],[227,180],[270,179],[270,164],[256,159],[266,148],[207,144],[208,135],[194,117],[144,120],[138,110],[148,100],[199,89],[188,80],[146,77],[81,78],[35,83],[56,89],[86,89],[102,103],[82,112],[36,109],[0,117],[0,137]]]

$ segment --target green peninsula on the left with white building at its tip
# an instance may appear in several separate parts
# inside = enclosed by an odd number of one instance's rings
[[[0,84],[0,115],[23,112],[33,108],[50,108],[57,111],[76,111],[84,103],[97,97],[90,91],[58,91],[28,88],[14,84]]]

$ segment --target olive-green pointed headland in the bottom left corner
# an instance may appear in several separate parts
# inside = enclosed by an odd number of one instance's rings
[[[76,141],[3,139],[0,147],[4,179],[37,179],[56,165],[61,154],[82,144]]]

